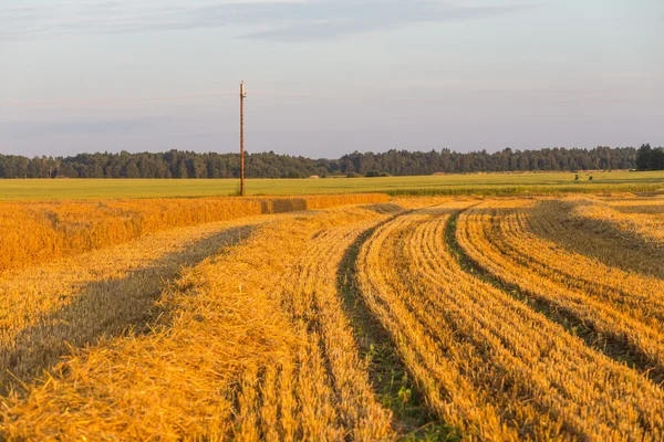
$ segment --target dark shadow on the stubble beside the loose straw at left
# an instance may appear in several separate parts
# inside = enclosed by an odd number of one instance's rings
[[[0,394],[21,390],[72,350],[124,334],[147,332],[159,311],[155,301],[185,266],[194,266],[248,238],[256,225],[231,228],[193,242],[121,278],[84,285],[71,304],[20,330],[0,354]]]

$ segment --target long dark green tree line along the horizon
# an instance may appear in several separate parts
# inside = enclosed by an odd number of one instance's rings
[[[247,178],[307,178],[310,176],[413,176],[432,173],[664,169],[664,149],[643,145],[593,149],[551,148],[489,154],[388,150],[353,152],[339,159],[311,159],[272,151],[246,154]],[[239,178],[238,154],[198,154],[169,150],[80,154],[73,157],[0,155],[0,178]]]

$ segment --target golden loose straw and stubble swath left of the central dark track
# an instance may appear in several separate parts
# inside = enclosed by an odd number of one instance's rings
[[[3,399],[3,434],[394,439],[336,291],[347,248],[387,215],[284,217],[185,271],[149,333],[77,351],[25,396]]]

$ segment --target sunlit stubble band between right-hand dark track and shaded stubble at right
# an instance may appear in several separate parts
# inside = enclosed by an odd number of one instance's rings
[[[647,287],[661,286],[662,282],[643,280],[641,285],[632,287],[635,293],[627,290],[626,294],[618,291],[619,283],[615,286],[600,284],[610,281],[616,271],[599,263],[593,265],[592,261],[580,262],[581,257],[542,242],[523,227],[535,221],[520,219],[518,215],[523,209],[515,209],[513,204],[517,202],[504,201],[492,207],[489,202],[461,213],[456,239],[464,252],[495,277],[518,286],[529,298],[560,314],[563,323],[569,323],[568,329],[601,335],[598,344],[605,343],[608,355],[626,359],[660,379],[664,335],[663,324],[655,315],[661,299],[657,293],[649,294]],[[558,235],[570,234],[563,232],[560,230]],[[584,272],[594,275],[596,281],[588,281]],[[639,278],[632,276],[635,281]],[[636,292],[641,287],[643,293]],[[649,311],[649,298],[657,308]]]

